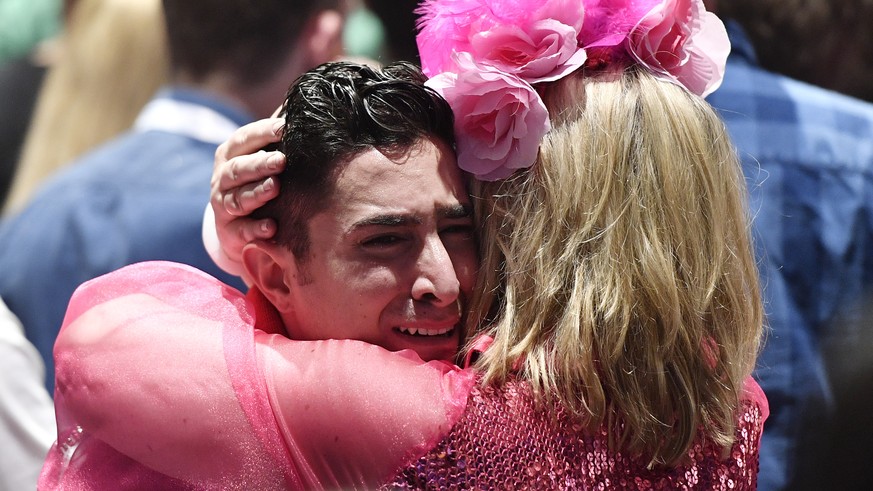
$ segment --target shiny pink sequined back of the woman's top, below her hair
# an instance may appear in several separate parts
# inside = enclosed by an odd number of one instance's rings
[[[382,489],[481,490],[754,490],[763,416],[744,401],[728,457],[703,441],[685,465],[647,469],[611,452],[607,430],[590,435],[559,408],[537,411],[529,385],[476,387],[451,432]]]

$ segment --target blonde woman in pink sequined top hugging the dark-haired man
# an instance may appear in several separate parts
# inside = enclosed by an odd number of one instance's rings
[[[544,11],[564,12],[558,3]],[[760,292],[740,169],[696,92],[712,85],[668,79],[675,72],[653,69],[645,52],[598,39],[583,45],[606,49],[535,82],[537,91],[463,60],[428,82],[454,110],[458,162],[475,179],[481,265],[467,368],[353,340],[288,339],[257,287],[250,303],[234,307],[242,296],[210,278],[143,264],[74,298],[57,348],[65,409],[125,455],[187,481],[220,462],[247,468],[247,451],[216,433],[232,428],[246,442],[260,438],[250,455],[270,454],[290,489],[754,489],[767,417],[749,376]],[[518,103],[501,106],[508,99]],[[502,107],[526,123],[515,126],[514,144],[471,141],[500,140],[492,131],[500,124],[489,123],[505,122]],[[281,217],[233,221],[223,206],[246,213],[282,192],[258,177],[271,173],[276,155],[251,153],[277,139],[276,123],[243,128],[217,154],[213,203],[223,237],[283,227]],[[487,158],[495,152],[504,158]],[[224,243],[231,260],[233,243]],[[193,301],[219,301],[210,290],[223,292],[233,315]],[[186,350],[206,369],[193,370]],[[161,360],[160,373],[135,368],[149,359]],[[155,399],[174,410],[137,409]],[[204,400],[221,416],[192,428]],[[185,418],[174,414],[180,407]],[[249,423],[229,427],[228,416]],[[206,442],[210,459],[174,465],[172,455]],[[172,451],[161,457],[156,448]]]

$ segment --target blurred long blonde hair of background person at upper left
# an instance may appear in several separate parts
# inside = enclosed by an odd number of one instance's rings
[[[23,205],[53,172],[130,128],[168,80],[160,0],[78,0],[58,49],[4,213]]]

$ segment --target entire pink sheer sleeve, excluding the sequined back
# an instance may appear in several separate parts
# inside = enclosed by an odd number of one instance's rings
[[[55,347],[60,443],[40,488],[368,488],[463,412],[471,372],[291,341],[270,334],[268,307],[172,263],[80,287]]]

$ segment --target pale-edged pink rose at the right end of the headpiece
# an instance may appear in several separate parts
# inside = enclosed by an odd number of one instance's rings
[[[701,96],[721,85],[730,41],[702,0],[664,0],[629,37],[633,56],[656,74]]]

